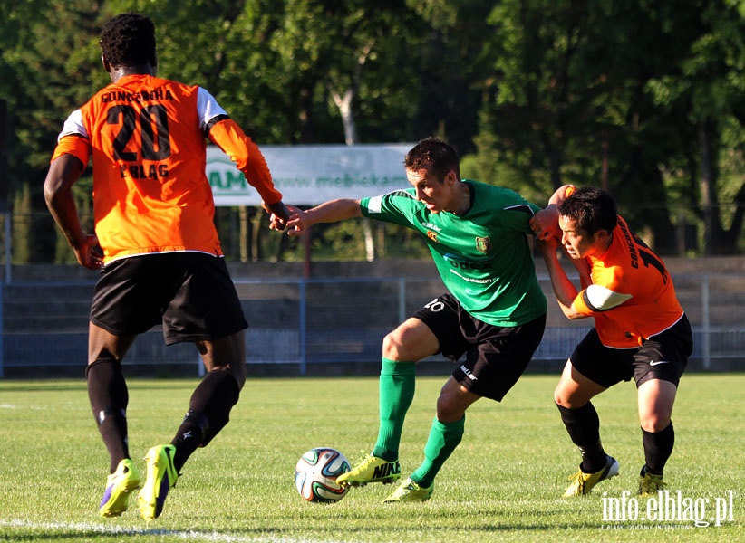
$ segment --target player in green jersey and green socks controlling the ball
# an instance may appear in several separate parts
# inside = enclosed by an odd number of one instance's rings
[[[424,461],[384,502],[431,497],[437,472],[463,436],[469,405],[481,397],[501,401],[546,326],[546,298],[527,240],[530,218],[540,208],[506,188],[460,179],[455,149],[438,138],[417,143],[404,166],[411,188],[332,200],[307,211],[288,206],[287,222],[290,235],[312,224],[363,216],[407,226],[427,241],[449,291],[383,339],[377,442],[363,462],[337,479],[363,486],[401,478],[399,443],[416,363],[441,353],[457,368],[440,391]]]

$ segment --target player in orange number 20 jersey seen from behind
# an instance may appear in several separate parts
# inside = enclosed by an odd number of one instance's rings
[[[89,327],[88,395],[110,475],[102,517],[127,509],[131,491],[151,520],[192,452],[227,424],[246,381],[247,322],[227,271],[205,174],[206,138],[261,195],[283,228],[288,218],[266,160],[207,90],[156,77],[155,27],[121,14],[102,28],[111,84],[65,121],[44,197],[78,262],[101,269]],[[95,233],[85,233],[72,187],[92,156]],[[129,401],[121,361],[138,334],[163,326],[167,345],[189,341],[207,374],[169,444],[147,453],[144,485],[127,441]]]

